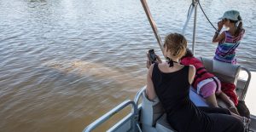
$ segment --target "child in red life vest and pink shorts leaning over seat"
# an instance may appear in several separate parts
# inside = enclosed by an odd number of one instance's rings
[[[192,86],[197,90],[197,94],[207,101],[209,106],[218,107],[216,100],[216,96],[218,96],[229,106],[231,112],[239,114],[235,104],[221,91],[221,84],[218,78],[212,73],[207,72],[201,60],[196,59],[189,49],[187,49],[186,55],[182,57],[181,64],[195,66],[195,78]]]

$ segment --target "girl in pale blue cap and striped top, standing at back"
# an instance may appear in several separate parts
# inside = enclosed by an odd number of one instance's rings
[[[219,18],[218,31],[212,38],[212,43],[218,43],[214,60],[236,64],[236,48],[239,46],[245,30],[242,28],[240,13],[236,10],[229,10]],[[228,30],[219,33],[223,26]]]

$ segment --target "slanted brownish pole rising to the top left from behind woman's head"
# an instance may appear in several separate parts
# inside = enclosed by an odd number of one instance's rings
[[[162,45],[162,41],[161,41],[160,35],[159,35],[158,31],[157,31],[157,27],[156,27],[156,24],[155,24],[155,22],[153,20],[152,14],[150,13],[150,10],[148,8],[147,0],[141,0],[141,3],[143,4],[143,9],[144,9],[145,13],[147,14],[150,26],[153,29],[154,36],[156,37],[156,40],[157,40],[157,42],[158,42],[158,44],[160,46],[162,54],[164,55],[164,48],[163,48],[163,45]]]

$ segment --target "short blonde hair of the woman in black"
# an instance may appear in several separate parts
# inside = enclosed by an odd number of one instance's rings
[[[171,33],[166,36],[164,47],[171,52],[172,58],[180,59],[186,54],[187,40],[179,33]]]

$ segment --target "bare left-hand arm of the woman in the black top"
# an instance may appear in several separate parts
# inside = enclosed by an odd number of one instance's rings
[[[153,72],[154,65],[151,65],[148,69],[148,75],[147,75],[147,88],[146,88],[146,94],[148,95],[149,100],[154,100],[156,97],[155,91],[154,91],[154,84],[152,81],[152,72]]]

